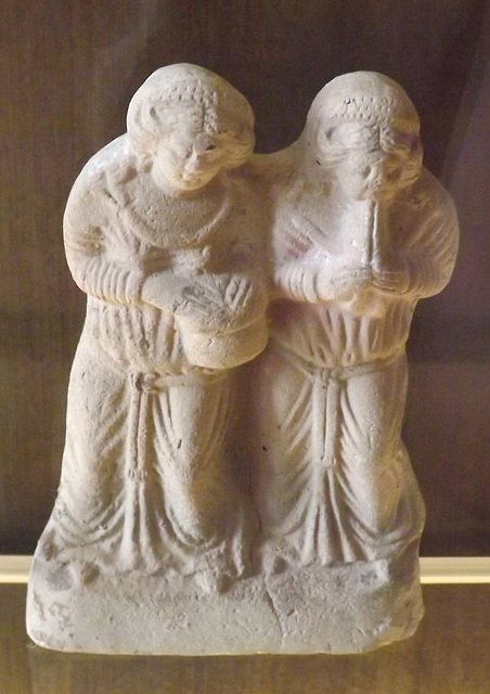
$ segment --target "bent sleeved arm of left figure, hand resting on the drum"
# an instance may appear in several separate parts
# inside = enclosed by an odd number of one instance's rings
[[[111,304],[154,306],[197,332],[238,330],[265,313],[260,269],[198,273],[179,262],[179,253],[145,253],[107,178],[82,172],[65,211],[66,257],[83,292]]]

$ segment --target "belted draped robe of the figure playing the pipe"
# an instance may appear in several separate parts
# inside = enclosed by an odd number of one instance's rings
[[[424,504],[401,426],[404,345],[420,298],[446,285],[457,221],[449,195],[424,171],[385,215],[388,270],[407,286],[325,295],[344,267],[365,262],[368,203],[326,200],[309,219],[301,182],[278,184],[271,234],[271,339],[254,370],[254,490],[262,561],[371,561],[418,541]],[[318,215],[320,217],[320,215]],[[322,294],[323,292],[323,294]],[[334,292],[334,290],[333,290]]]

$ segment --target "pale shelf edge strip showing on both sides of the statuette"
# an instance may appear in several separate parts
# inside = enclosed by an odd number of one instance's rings
[[[31,556],[0,555],[0,583],[27,583]],[[490,583],[490,556],[423,556],[424,584]]]

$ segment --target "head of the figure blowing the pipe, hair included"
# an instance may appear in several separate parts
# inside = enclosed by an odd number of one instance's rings
[[[402,88],[378,73],[350,73],[314,99],[304,137],[310,165],[354,200],[390,198],[422,171],[420,121]]]

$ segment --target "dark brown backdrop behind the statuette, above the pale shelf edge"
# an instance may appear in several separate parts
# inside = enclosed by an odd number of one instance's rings
[[[320,88],[375,69],[421,114],[462,247],[417,309],[405,442],[425,554],[490,553],[490,17],[479,0],[0,0],[0,553],[30,553],[53,503],[85,297],[62,245],[83,163],[155,68],[209,67],[249,99],[258,151],[289,144]]]

